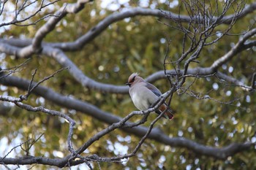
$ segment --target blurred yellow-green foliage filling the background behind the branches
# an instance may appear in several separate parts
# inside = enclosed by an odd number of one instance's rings
[[[136,1],[131,1],[131,5],[138,6]],[[60,4],[61,5],[61,4]],[[169,9],[166,4],[157,4],[157,7]],[[156,8],[157,8],[156,7]],[[219,8],[221,6],[219,5]],[[178,7],[171,9],[178,12]],[[95,16],[90,16],[91,10],[95,11]],[[97,2],[87,4],[78,15],[67,15],[61,21],[59,26],[53,30],[46,38],[46,42],[69,42],[74,41],[79,36],[89,31],[102,18],[108,16],[111,11],[106,10],[105,15],[100,15],[102,9]],[[232,11],[228,13],[233,13]],[[181,8],[181,14],[187,15],[184,7]],[[237,24],[230,30],[232,34],[246,31],[253,15],[237,21]],[[40,17],[40,16],[39,16]],[[180,31],[159,23],[158,21],[174,25],[170,20],[159,19],[154,17],[137,16],[113,23],[109,28],[102,32],[96,39],[91,41],[82,50],[75,53],[67,53],[69,58],[77,64],[86,76],[92,79],[110,83],[114,85],[124,85],[127,82],[129,74],[139,72],[142,77],[164,69],[163,63],[167,50],[166,39],[171,39],[170,52],[167,54],[170,61],[176,61],[182,53],[183,34]],[[7,36],[18,37],[23,34],[32,38],[37,29],[45,21],[39,22],[36,26],[17,27],[12,26],[7,31]],[[217,30],[223,30],[227,26],[218,26]],[[216,37],[215,37],[216,38]],[[217,58],[227,53],[233,43],[236,43],[239,36],[224,36],[219,42],[203,49],[200,53],[200,63],[192,64],[195,66],[211,66]],[[186,42],[189,44],[189,42]],[[7,66],[17,66],[23,60],[17,61],[11,56],[7,56]],[[246,50],[238,54],[235,58],[222,67],[222,72],[236,77],[238,80],[244,80],[247,84],[255,72],[256,60],[255,50]],[[233,72],[229,72],[230,68]],[[26,67],[17,72],[15,75],[31,79],[34,69],[38,72],[35,80],[42,80],[60,69],[53,58],[42,55],[34,55]],[[167,64],[167,69],[173,69],[172,64]],[[230,69],[231,70],[231,69]],[[169,83],[167,80],[159,80],[154,84],[165,92],[168,90]],[[206,144],[214,147],[224,147],[231,142],[246,142],[255,135],[255,93],[248,93],[239,87],[234,87],[219,80],[217,77],[211,78],[188,78],[184,84],[184,89],[190,87],[187,91],[173,96],[171,107],[176,110],[176,115],[172,121],[159,120],[157,126],[169,136],[183,136],[192,139],[200,144]],[[129,96],[121,94],[100,93],[95,90],[83,88],[67,71],[57,74],[52,79],[43,83],[43,85],[56,90],[64,95],[74,96],[82,101],[87,101],[102,110],[124,117],[135,110]],[[218,85],[214,89],[214,85]],[[6,92],[10,96],[18,97],[26,92],[17,88],[7,88]],[[200,97],[206,95],[212,99],[198,99],[192,96],[196,92]],[[51,102],[42,101],[42,98],[32,95],[28,101],[33,106],[43,104],[46,108],[56,109],[71,115],[76,120],[77,126],[73,142],[75,147],[80,147],[83,142],[90,139],[91,136],[106,128],[108,125],[93,119],[86,113],[75,112],[65,108],[58,107]],[[153,120],[156,115],[151,114],[146,125]],[[139,119],[140,117],[137,117]],[[31,155],[45,155],[53,157],[59,151],[67,155],[67,133],[68,124],[64,120],[50,115],[44,115],[38,112],[27,112],[25,110],[12,107],[7,115],[1,115],[0,138],[6,137],[8,144],[12,144],[14,139],[20,137],[20,142],[26,142],[27,139],[36,140],[33,143],[34,150],[29,152]],[[119,137],[118,139],[118,136]],[[115,152],[118,144],[129,147],[131,152],[140,139],[123,131],[116,130],[111,134],[104,136],[98,142],[89,147],[84,153],[99,156],[114,156],[124,154],[124,152]],[[113,148],[114,149],[113,149]],[[111,149],[112,148],[112,149]],[[27,154],[27,153],[25,153]],[[24,155],[20,150],[17,155]],[[61,154],[59,154],[61,156]],[[57,154],[58,156],[58,154]],[[146,140],[146,143],[140,148],[135,157],[123,163],[99,163],[102,169],[253,169],[256,167],[255,148],[247,152],[241,152],[224,161],[216,161],[213,158],[197,155],[185,148],[175,148],[165,146],[157,142]],[[97,163],[93,163],[97,167]],[[138,168],[140,167],[140,168]],[[164,168],[163,168],[164,167]],[[35,169],[42,166],[35,166]]]

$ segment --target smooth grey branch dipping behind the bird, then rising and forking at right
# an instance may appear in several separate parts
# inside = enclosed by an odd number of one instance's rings
[[[199,77],[214,74],[215,68],[217,68],[217,67],[221,66],[223,63],[229,61],[231,58],[233,58],[234,55],[240,53],[243,50],[246,50],[247,49],[246,47],[255,46],[255,41],[246,43],[246,46],[243,46],[243,43],[242,43],[242,42],[246,42],[246,39],[249,39],[250,36],[254,35],[255,31],[256,30],[253,29],[252,31],[249,31],[247,34],[245,34],[243,36],[243,38],[239,40],[237,45],[230,50],[230,52],[228,52],[226,55],[223,55],[222,58],[219,58],[219,60],[215,61],[212,64],[212,66],[207,67],[207,68],[197,67],[194,69],[187,69],[187,74],[198,75]],[[10,47],[10,45],[7,45],[6,43],[0,43],[0,50],[1,50],[1,47],[5,48],[5,46]],[[78,69],[78,67],[75,65],[75,63],[72,63],[72,61],[70,61],[69,58],[67,58],[67,55],[65,55],[61,50],[54,49],[49,46],[45,46],[43,49],[44,49],[42,51],[43,54],[55,58],[56,61],[61,63],[61,65],[64,67],[70,67],[69,73],[72,74],[72,76],[75,78],[75,80],[80,82],[81,85],[91,88],[91,89],[94,89],[94,90],[99,90],[102,92],[104,91],[104,92],[108,92],[108,93],[128,93],[127,86],[105,84],[105,83],[101,83],[101,82],[96,82],[96,81],[92,80],[91,78],[86,77],[86,75],[83,74],[83,72],[81,72],[80,69]],[[10,49],[10,50],[12,51],[12,53],[15,53],[15,51],[16,51],[14,49]],[[190,53],[190,51],[188,51],[186,55],[188,55],[189,53]],[[198,53],[195,53],[195,54],[198,54]],[[192,60],[193,59],[195,59],[195,58],[192,58]],[[179,71],[178,70],[177,71],[176,70],[168,70],[167,74],[177,75],[177,72],[179,75],[184,74],[184,70],[179,70]],[[158,80],[160,78],[165,78],[165,77],[166,76],[165,76],[164,72],[159,71],[159,72],[156,72],[156,73],[152,74],[151,76],[149,76],[146,80],[148,82],[154,82],[155,80]],[[224,76],[222,75],[222,77],[224,77]],[[247,85],[244,85],[244,83],[238,82],[238,80],[235,80],[233,78],[224,77],[223,79],[227,80],[229,82],[233,82],[236,85],[241,85],[241,87],[243,87],[243,86],[249,87]]]

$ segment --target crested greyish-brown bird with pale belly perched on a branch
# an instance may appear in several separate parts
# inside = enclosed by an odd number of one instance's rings
[[[162,95],[160,90],[139,77],[138,73],[131,74],[126,85],[129,85],[129,96],[131,96],[133,104],[140,110],[149,109]],[[167,108],[167,104],[164,103],[155,112],[160,115]],[[163,117],[170,120],[173,118],[170,108],[165,111]]]

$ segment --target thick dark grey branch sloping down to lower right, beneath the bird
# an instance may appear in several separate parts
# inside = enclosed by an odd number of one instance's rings
[[[6,77],[0,80],[2,85],[15,86],[17,88],[27,90],[29,86],[28,80],[23,80],[18,77]],[[75,109],[77,111],[86,113],[97,120],[100,120],[104,123],[113,124],[118,123],[121,120],[121,117],[110,114],[109,112],[103,112],[101,109],[94,107],[93,105],[86,103],[84,101],[80,101],[75,98],[69,98],[67,96],[62,96],[59,93],[54,92],[50,88],[45,88],[42,86],[38,86],[34,89],[34,93],[39,96],[44,97],[48,101],[52,101],[54,104],[58,104],[61,107],[66,107],[68,109]],[[128,133],[135,134],[136,136],[142,137],[148,131],[148,128],[145,126],[137,126],[133,128],[122,128],[122,131],[127,131]],[[166,134],[164,134],[159,128],[153,128],[151,134],[148,135],[148,139],[154,139],[157,142],[162,144],[168,144],[173,147],[185,147],[189,150],[193,150],[194,152],[208,155],[218,159],[225,159],[230,154],[235,154],[236,152],[240,152],[242,150],[247,150],[251,147],[252,143],[243,143],[243,144],[231,144],[230,146],[236,147],[224,147],[222,149],[215,147],[207,147],[203,144],[198,144],[189,139],[185,139],[182,137],[170,138]],[[237,147],[239,146],[239,148]],[[229,148],[229,149],[228,149]],[[227,150],[228,149],[228,150]],[[42,161],[44,158],[40,159]],[[31,161],[31,160],[30,160]],[[36,160],[34,160],[36,161]]]

